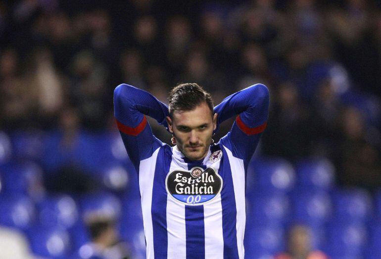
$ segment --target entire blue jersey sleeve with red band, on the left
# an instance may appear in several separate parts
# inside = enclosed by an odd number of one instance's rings
[[[127,84],[114,90],[114,115],[127,153],[139,167],[141,160],[148,158],[163,145],[153,134],[145,115],[167,127],[168,106],[146,91]]]

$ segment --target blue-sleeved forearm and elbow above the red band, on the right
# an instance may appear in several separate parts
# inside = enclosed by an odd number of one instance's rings
[[[247,127],[257,127],[267,121],[269,111],[269,91],[266,86],[256,84],[227,98],[214,108],[218,113],[217,124],[239,115],[237,122]]]

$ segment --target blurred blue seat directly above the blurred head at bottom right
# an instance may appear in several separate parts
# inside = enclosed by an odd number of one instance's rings
[[[292,218],[309,226],[321,226],[332,215],[332,201],[327,192],[295,190],[291,193]]]

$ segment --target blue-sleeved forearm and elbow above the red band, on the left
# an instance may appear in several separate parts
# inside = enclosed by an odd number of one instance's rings
[[[129,127],[136,127],[143,120],[143,114],[166,126],[167,105],[161,103],[146,91],[127,84],[121,84],[114,91],[115,118]]]

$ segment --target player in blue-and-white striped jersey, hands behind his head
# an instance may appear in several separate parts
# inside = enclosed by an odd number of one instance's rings
[[[200,86],[182,84],[167,107],[122,84],[114,106],[139,174],[147,258],[243,259],[245,174],[266,127],[267,88],[253,85],[213,108]],[[174,147],[152,135],[145,115],[167,127]],[[213,132],[232,116],[231,131],[213,144]]]

